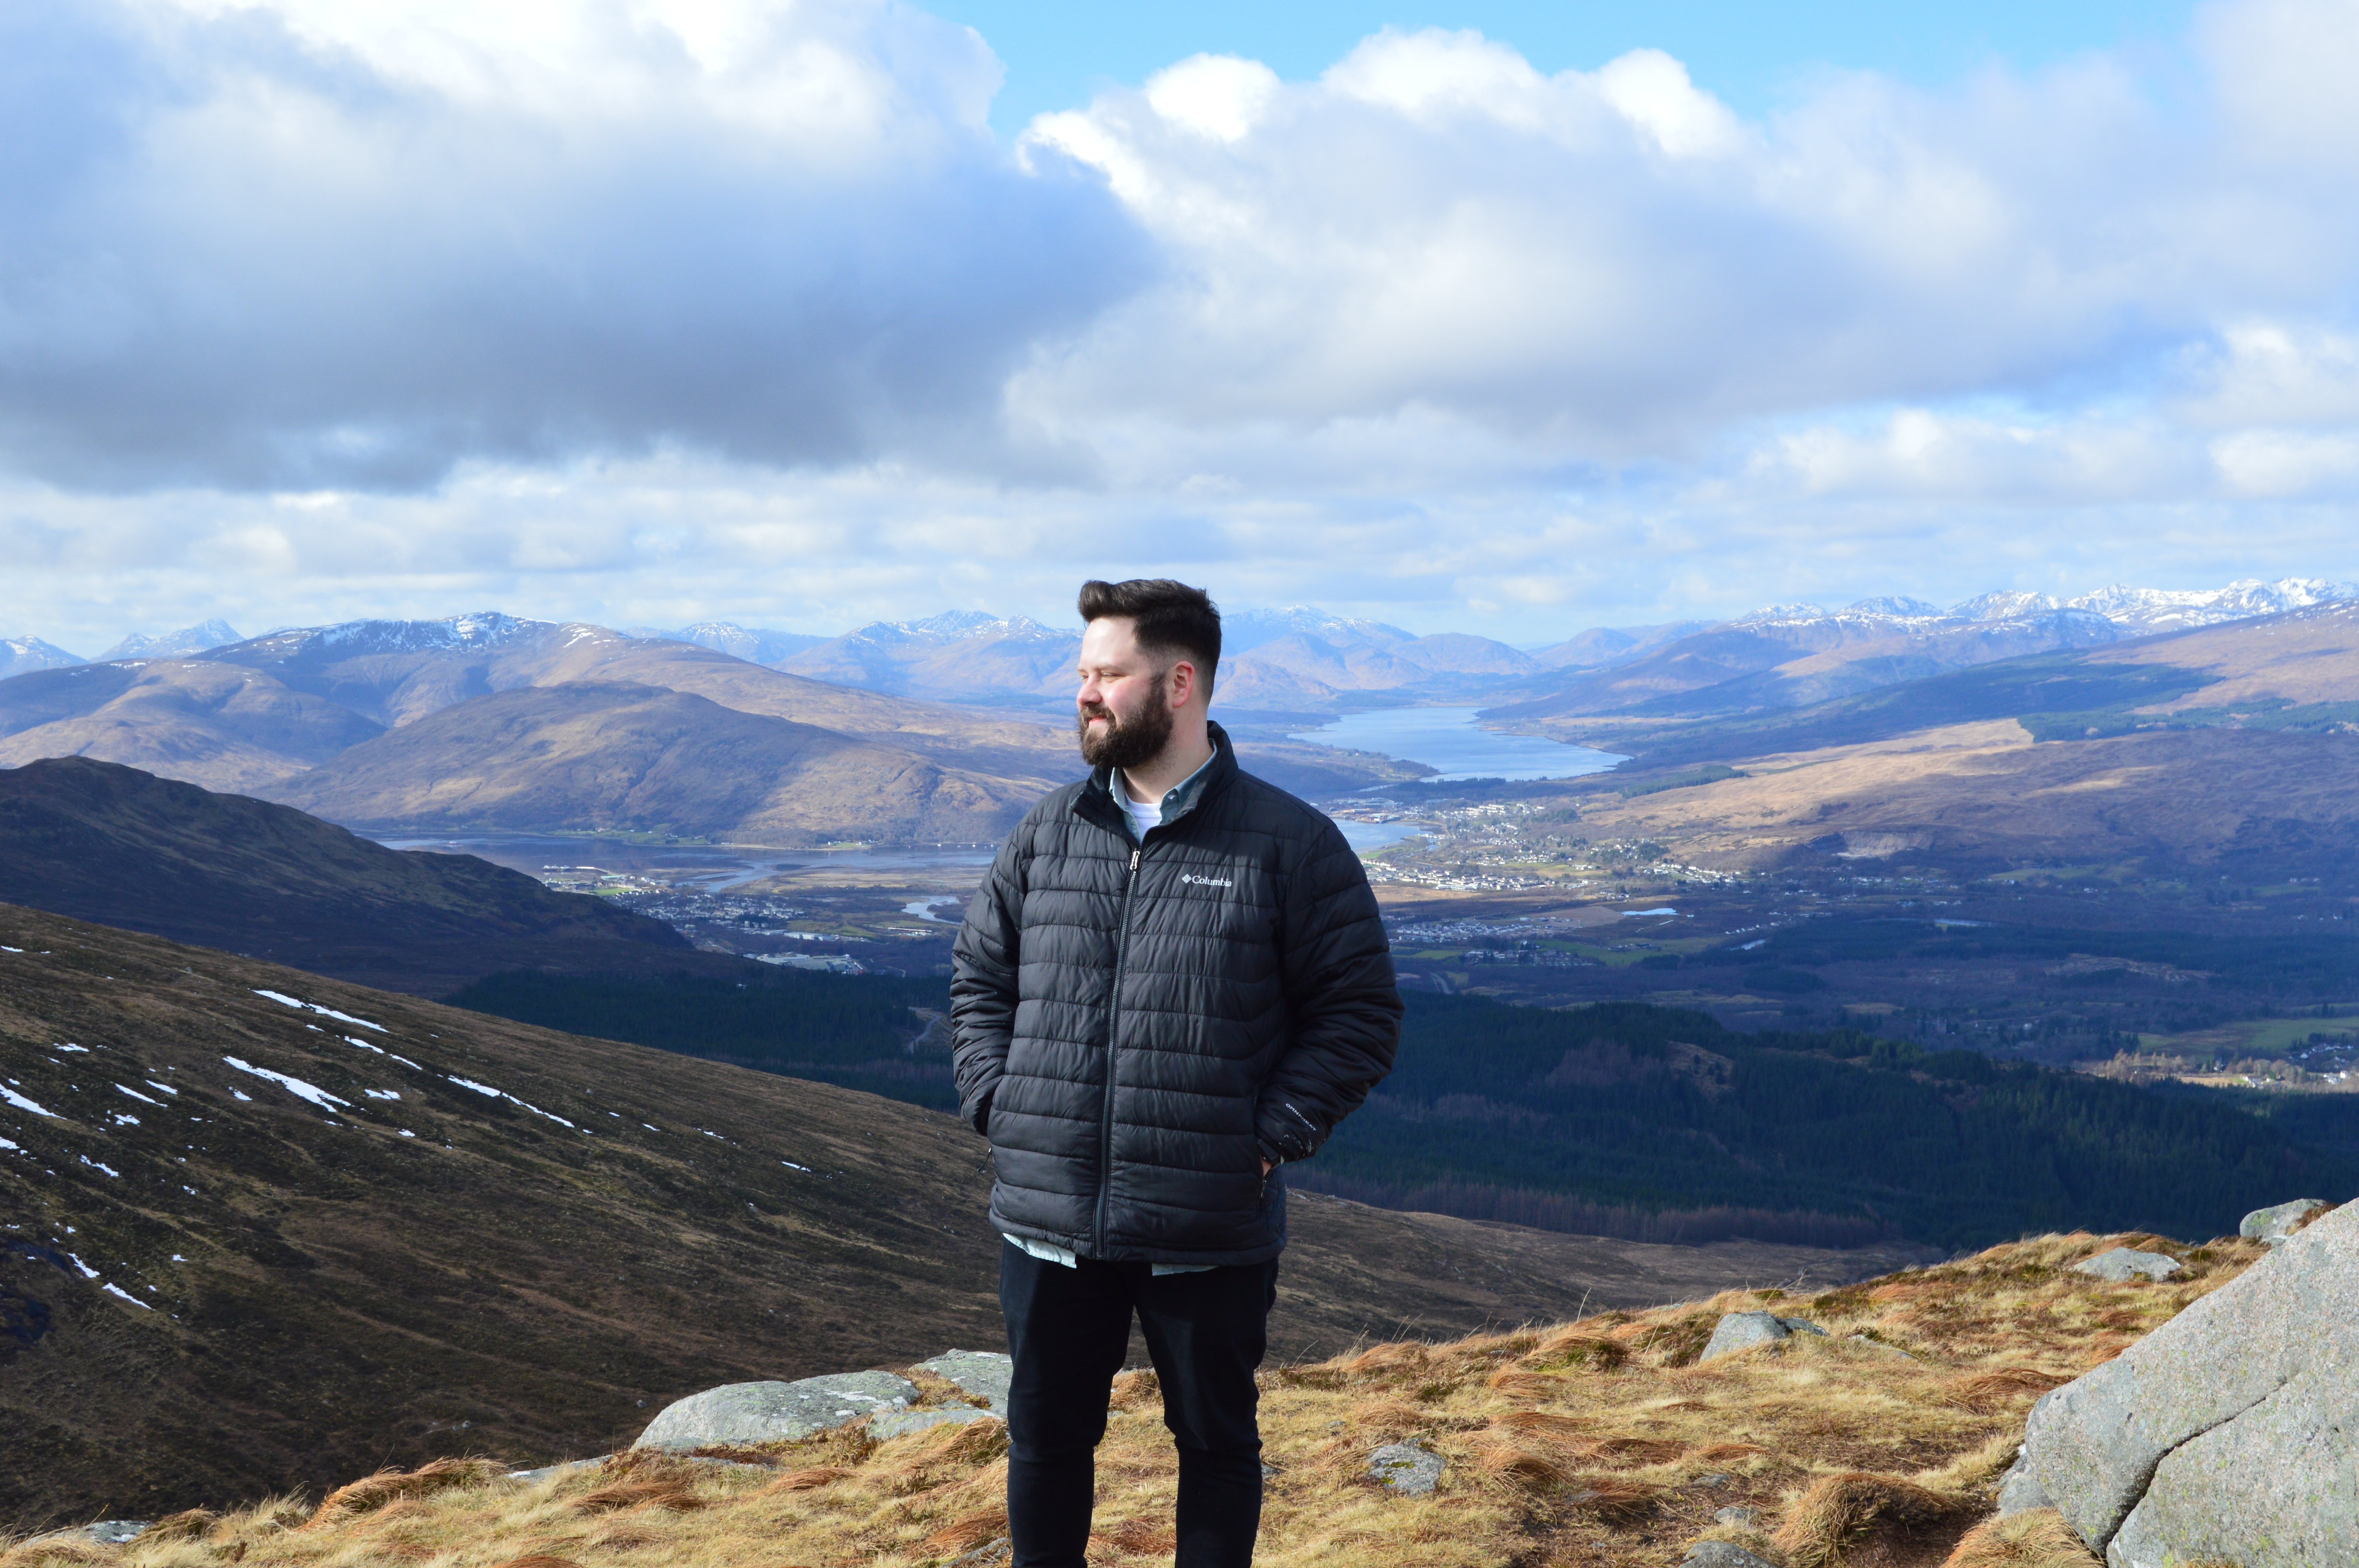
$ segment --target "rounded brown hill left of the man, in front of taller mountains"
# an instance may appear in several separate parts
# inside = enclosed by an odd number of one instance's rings
[[[736,844],[974,844],[1038,795],[1031,780],[623,681],[458,703],[274,788],[368,830],[561,828]]]

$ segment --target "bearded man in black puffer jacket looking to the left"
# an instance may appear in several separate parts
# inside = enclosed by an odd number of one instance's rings
[[[1401,995],[1359,856],[1205,714],[1220,611],[1085,582],[1090,778],[1007,835],[958,931],[960,1108],[991,1139],[1014,1568],[1083,1568],[1137,1313],[1180,1448],[1180,1568],[1253,1561],[1253,1370],[1286,1179],[1392,1068]]]

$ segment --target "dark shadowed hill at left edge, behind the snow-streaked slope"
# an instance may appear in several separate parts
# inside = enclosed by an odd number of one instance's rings
[[[87,757],[0,771],[0,901],[441,995],[500,969],[736,971],[661,920]]]

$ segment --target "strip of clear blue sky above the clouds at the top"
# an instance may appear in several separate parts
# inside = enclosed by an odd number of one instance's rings
[[[1989,0],[1875,5],[1795,0],[1736,5],[1338,5],[1201,0],[1078,5],[977,0],[939,7],[977,28],[1007,68],[991,123],[1003,134],[1111,83],[1139,83],[1189,54],[1243,54],[1288,80],[1314,78],[1378,28],[1474,28],[1540,71],[1595,68],[1630,50],[1665,50],[1739,113],[1762,116],[1805,94],[1819,73],[1880,71],[1946,87],[1991,66],[2038,71],[2095,50],[2175,54],[2189,5],[2170,0]]]

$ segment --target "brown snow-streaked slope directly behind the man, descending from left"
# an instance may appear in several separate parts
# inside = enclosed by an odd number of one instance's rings
[[[9,905],[0,1082],[0,1521],[611,1452],[715,1384],[1000,1344],[981,1144],[870,1094]],[[1857,1278],[1333,1200],[1293,1221],[1279,1361]]]

